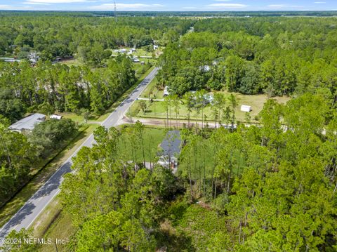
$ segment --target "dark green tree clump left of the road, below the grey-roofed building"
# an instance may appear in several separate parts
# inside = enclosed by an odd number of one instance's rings
[[[0,206],[22,188],[48,157],[78,133],[70,119],[41,122],[29,134],[8,129],[0,115]]]

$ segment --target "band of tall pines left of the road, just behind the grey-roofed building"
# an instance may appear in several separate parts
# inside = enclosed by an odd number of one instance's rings
[[[11,121],[21,119],[25,112],[53,114],[86,109],[102,114],[136,83],[133,63],[124,56],[95,70],[48,61],[31,67],[23,61],[0,63],[0,71],[0,114]]]

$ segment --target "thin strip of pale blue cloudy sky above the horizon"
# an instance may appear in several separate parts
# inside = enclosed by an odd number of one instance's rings
[[[117,0],[118,11],[336,11],[336,0]],[[0,0],[0,10],[113,11],[113,0]]]

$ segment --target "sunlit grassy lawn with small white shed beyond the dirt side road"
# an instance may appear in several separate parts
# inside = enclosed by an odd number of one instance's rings
[[[154,82],[154,81],[153,81]],[[153,85],[153,86],[152,86]],[[149,97],[150,92],[156,92],[157,88],[154,88],[154,84],[150,84],[150,86],[145,90],[142,97]],[[153,88],[153,89],[152,89]],[[225,94],[226,97],[229,97],[230,93],[222,92]],[[250,105],[252,107],[251,111],[251,120],[254,121],[254,118],[258,115],[258,113],[263,109],[263,105],[268,100],[267,95],[242,95],[240,93],[233,93],[237,98],[238,106],[235,110],[235,114],[238,121],[245,121],[245,112],[240,110],[242,105]],[[158,95],[160,97],[160,93]],[[290,98],[288,97],[277,97],[274,98],[280,103],[286,103]],[[185,101],[183,100],[185,103]],[[159,118],[159,119],[166,119],[166,110],[164,107],[164,102],[147,102],[147,110],[143,112],[140,110],[140,101],[136,101],[130,109],[128,115],[131,117],[143,117],[143,118]],[[229,102],[227,102],[229,105]],[[187,119],[188,111],[187,107],[184,104],[180,104],[179,115],[178,119]],[[208,106],[204,108],[204,116],[206,116],[207,121],[213,121],[213,111],[211,107]],[[174,107],[171,107],[171,112],[169,110],[169,118],[176,119],[176,112],[174,111]],[[205,117],[204,117],[205,118]],[[190,114],[191,120],[201,120],[201,111],[197,114],[196,110],[192,110]]]

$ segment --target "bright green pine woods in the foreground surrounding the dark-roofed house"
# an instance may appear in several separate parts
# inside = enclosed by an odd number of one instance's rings
[[[269,100],[259,116],[263,127],[242,125],[234,133],[181,131],[184,168],[176,175],[129,162],[126,142],[133,152],[145,150],[142,124],[98,128],[97,144],[82,148],[72,166],[77,172],[62,184],[75,227],[68,249],[335,251],[331,102],[312,94],[286,105]]]

